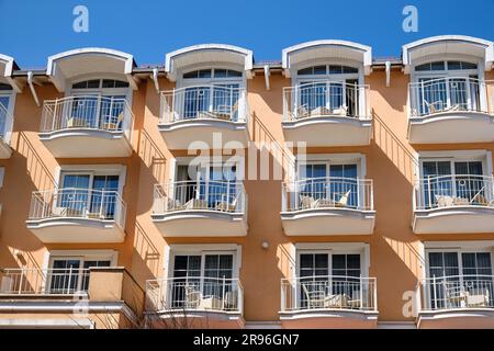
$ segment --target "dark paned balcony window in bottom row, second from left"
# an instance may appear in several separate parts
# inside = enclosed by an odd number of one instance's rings
[[[234,253],[231,252],[175,254],[168,287],[171,307],[197,308],[204,305],[223,309],[224,304],[233,304],[233,294],[238,288],[233,281],[234,269]]]

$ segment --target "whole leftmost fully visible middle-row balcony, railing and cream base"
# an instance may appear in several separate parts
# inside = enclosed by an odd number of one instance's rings
[[[122,242],[126,205],[116,191],[35,191],[27,228],[44,244]]]

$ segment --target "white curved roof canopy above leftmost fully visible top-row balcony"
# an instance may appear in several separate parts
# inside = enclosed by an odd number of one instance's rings
[[[136,89],[132,78],[133,67],[134,57],[130,54],[109,48],[86,47],[49,56],[46,75],[58,91],[65,90],[66,80],[90,73],[122,75],[131,87]]]

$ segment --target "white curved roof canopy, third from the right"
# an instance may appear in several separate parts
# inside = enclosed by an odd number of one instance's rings
[[[165,58],[165,71],[170,80],[175,81],[179,71],[200,64],[236,65],[250,78],[254,56],[251,50],[233,45],[193,45],[168,53]]]

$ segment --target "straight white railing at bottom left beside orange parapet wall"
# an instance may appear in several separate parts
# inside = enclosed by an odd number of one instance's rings
[[[74,295],[89,287],[89,269],[2,269],[0,295]]]

